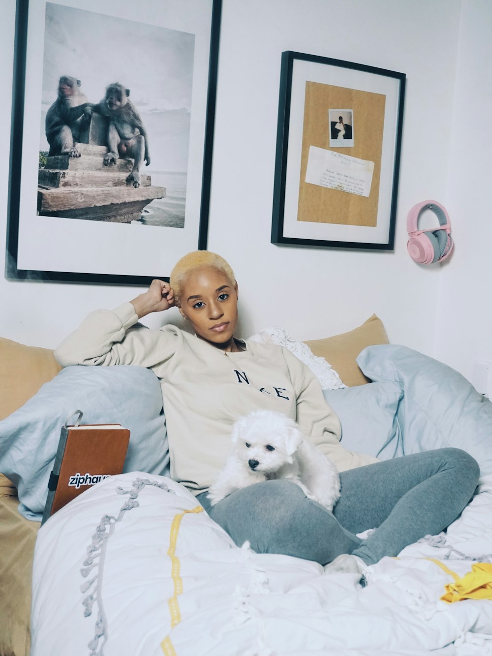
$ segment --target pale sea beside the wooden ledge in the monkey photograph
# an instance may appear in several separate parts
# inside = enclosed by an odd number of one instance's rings
[[[146,173],[146,171],[142,171],[142,173]],[[184,228],[186,173],[157,171],[150,173],[150,176],[152,186],[165,187],[166,197],[155,199],[146,205],[142,211],[142,219],[138,223],[144,226]]]

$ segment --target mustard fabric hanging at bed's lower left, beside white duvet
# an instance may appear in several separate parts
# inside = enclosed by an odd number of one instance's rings
[[[0,654],[30,651],[31,570],[39,522],[18,513],[17,497],[0,498]]]

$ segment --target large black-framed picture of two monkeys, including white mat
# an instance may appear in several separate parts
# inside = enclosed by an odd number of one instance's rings
[[[146,285],[207,246],[221,0],[18,0],[10,279]]]

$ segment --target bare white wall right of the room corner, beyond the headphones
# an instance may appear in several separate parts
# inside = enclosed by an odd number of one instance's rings
[[[491,34],[489,0],[463,3],[447,189],[456,247],[441,273],[435,354],[468,379],[475,359],[492,361]]]

